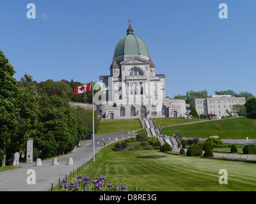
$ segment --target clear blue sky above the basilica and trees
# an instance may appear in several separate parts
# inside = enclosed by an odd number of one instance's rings
[[[35,19],[26,17],[28,3]],[[131,18],[156,73],[166,75],[166,96],[228,89],[256,96],[255,10],[255,0],[2,0],[0,50],[17,80],[26,72],[37,82],[98,82]]]

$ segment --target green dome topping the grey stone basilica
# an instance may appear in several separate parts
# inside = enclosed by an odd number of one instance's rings
[[[127,36],[124,36],[124,38],[121,38],[121,40],[118,41],[115,48],[114,57],[119,57],[124,54],[141,54],[149,57],[147,45],[143,42],[143,40],[137,36],[134,36],[131,25],[129,25],[129,28],[127,29]]]

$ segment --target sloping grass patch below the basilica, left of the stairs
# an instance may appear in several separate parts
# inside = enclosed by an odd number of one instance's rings
[[[106,120],[106,122],[100,122],[100,129],[97,135],[138,129],[141,129],[140,120],[138,119]]]

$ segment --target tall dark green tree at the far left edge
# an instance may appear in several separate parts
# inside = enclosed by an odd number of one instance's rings
[[[5,166],[5,159],[12,138],[17,133],[17,95],[18,88],[13,78],[15,70],[0,50],[0,160]]]

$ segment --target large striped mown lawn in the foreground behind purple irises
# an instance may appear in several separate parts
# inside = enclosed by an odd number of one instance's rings
[[[139,187],[145,191],[255,191],[256,164],[221,161],[200,157],[175,156],[159,150],[115,152],[108,145],[99,151],[95,162],[80,172],[91,179],[95,173],[105,175],[106,182],[128,183],[128,191]],[[166,156],[160,159],[137,156]],[[219,171],[228,171],[228,184],[220,185]],[[55,188],[57,190],[57,187]]]

